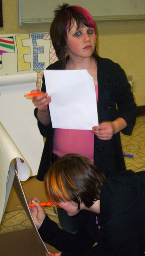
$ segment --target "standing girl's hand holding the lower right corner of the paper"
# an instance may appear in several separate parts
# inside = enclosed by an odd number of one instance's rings
[[[102,122],[98,126],[93,126],[91,132],[101,140],[109,140],[115,133],[114,123]]]

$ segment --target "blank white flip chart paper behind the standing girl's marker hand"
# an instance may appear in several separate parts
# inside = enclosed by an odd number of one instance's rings
[[[0,84],[5,82],[0,86],[0,122],[22,153],[31,169],[30,176],[33,176],[37,175],[44,144],[34,117],[32,99],[24,97],[36,89],[37,74],[30,74],[14,75],[15,81],[11,85],[6,85],[11,82],[11,75],[0,80]]]

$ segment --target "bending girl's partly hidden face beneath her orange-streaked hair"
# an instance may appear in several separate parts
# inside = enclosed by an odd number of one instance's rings
[[[67,211],[68,216],[74,216],[80,212],[74,202],[59,202],[57,205]]]

